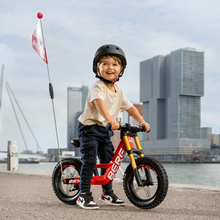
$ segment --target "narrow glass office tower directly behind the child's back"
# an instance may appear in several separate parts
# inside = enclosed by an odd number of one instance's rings
[[[67,88],[67,149],[75,151],[75,156],[79,156],[80,151],[71,144],[71,140],[78,137],[78,118],[84,111],[88,92],[88,86]]]

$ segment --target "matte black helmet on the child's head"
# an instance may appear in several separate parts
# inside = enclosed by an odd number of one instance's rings
[[[104,55],[113,55],[113,56],[117,56],[121,59],[121,64],[122,64],[122,74],[119,74],[118,78],[115,81],[109,81],[104,79],[102,76],[100,76],[97,73],[97,63],[99,62],[100,58],[103,57]],[[103,80],[104,82],[107,83],[115,83],[116,81],[119,81],[119,77],[121,77],[123,75],[124,69],[126,68],[127,65],[127,60],[125,57],[125,53],[124,51],[116,45],[113,44],[105,44],[101,47],[99,47],[99,49],[96,51],[94,59],[93,59],[93,72],[96,74],[96,77]]]

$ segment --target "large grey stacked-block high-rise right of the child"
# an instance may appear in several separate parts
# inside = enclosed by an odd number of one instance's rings
[[[184,48],[140,63],[140,101],[152,146],[208,147],[200,140],[200,106],[204,96],[204,52]],[[193,140],[192,140],[193,139]],[[170,140],[170,141],[168,141]]]

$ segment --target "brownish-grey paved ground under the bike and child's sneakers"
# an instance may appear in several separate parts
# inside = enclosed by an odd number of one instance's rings
[[[126,201],[125,207],[100,204],[101,188],[93,186],[93,197],[100,209],[83,210],[60,202],[48,175],[0,171],[0,219],[220,220],[220,187],[170,184],[163,203],[151,210],[133,206],[124,194],[121,181],[114,183],[114,191]]]

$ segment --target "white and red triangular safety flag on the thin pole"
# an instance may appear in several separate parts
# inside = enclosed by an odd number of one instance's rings
[[[44,60],[44,62],[48,63],[46,48],[44,47],[43,42],[44,42],[43,31],[42,31],[41,23],[39,20],[36,28],[34,29],[32,36],[31,36],[31,44],[32,44],[32,47],[34,48],[34,50]]]

